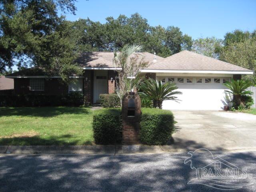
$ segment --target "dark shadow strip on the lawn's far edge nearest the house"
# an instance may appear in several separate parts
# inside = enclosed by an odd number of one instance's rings
[[[85,107],[18,107],[0,108],[0,116],[52,117],[62,114],[89,114]]]

